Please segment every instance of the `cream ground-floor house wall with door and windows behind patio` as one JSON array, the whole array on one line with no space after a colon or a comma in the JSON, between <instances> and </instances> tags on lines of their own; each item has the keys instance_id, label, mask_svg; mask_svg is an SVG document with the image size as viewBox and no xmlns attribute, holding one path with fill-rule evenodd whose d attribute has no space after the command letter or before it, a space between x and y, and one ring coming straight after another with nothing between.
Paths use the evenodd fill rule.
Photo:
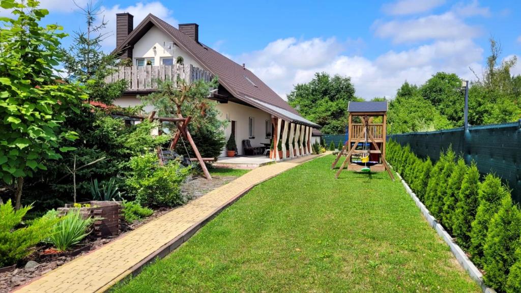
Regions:
<instances>
[{"instance_id":1,"label":"cream ground-floor house wall with door and windows behind patio","mask_svg":"<svg viewBox=\"0 0 521 293\"><path fill-rule=\"evenodd\" d=\"M228 120L237 121L235 123L235 143L237 143L237 149L240 155L244 154L244 150L242 148L242 141L245 139L249 139L252 146L261 146L261 143L269 143L270 138L266 138L266 128L265 121L268 120L269 130L271 132L271 115L259 110L257 108L253 108L250 106L241 105L238 103L228 102L226 104L217 104L217 109L221 113L220 119L226 119L228 115ZM249 137L249 117L254 117L254 135L255 138ZM225 130L226 139L230 137L231 134L231 122L228 124L228 127ZM221 156L226 156L226 150L223 150Z\"/></svg>"}]
</instances>

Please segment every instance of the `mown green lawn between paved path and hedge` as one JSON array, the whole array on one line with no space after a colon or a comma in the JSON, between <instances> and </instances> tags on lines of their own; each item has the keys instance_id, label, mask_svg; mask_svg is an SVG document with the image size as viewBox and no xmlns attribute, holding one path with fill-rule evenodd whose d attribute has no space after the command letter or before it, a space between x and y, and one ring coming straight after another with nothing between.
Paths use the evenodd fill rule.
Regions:
<instances>
[{"instance_id":1,"label":"mown green lawn between paved path and hedge","mask_svg":"<svg viewBox=\"0 0 521 293\"><path fill-rule=\"evenodd\" d=\"M387 173L317 158L228 207L116 292L481 292Z\"/></svg>"}]
</instances>

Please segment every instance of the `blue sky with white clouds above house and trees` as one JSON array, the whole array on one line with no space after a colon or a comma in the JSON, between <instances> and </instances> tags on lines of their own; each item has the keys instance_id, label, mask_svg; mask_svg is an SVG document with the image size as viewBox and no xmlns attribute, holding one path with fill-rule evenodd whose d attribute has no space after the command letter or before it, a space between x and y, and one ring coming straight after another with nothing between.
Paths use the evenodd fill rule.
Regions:
<instances>
[{"instance_id":1,"label":"blue sky with white clouds above house and trees","mask_svg":"<svg viewBox=\"0 0 521 293\"><path fill-rule=\"evenodd\" d=\"M77 3L85 3L78 0ZM350 76L358 96L393 96L405 81L437 71L476 79L501 42L503 58L521 56L521 1L117 1L97 0L114 31L115 13L148 13L172 25L199 23L200 41L246 63L281 96L314 72ZM43 0L46 22L72 32L83 26L72 0ZM5 14L5 11L0 11ZM69 41L65 41L67 43ZM110 51L115 37L104 49ZM521 74L521 65L514 69Z\"/></svg>"}]
</instances>

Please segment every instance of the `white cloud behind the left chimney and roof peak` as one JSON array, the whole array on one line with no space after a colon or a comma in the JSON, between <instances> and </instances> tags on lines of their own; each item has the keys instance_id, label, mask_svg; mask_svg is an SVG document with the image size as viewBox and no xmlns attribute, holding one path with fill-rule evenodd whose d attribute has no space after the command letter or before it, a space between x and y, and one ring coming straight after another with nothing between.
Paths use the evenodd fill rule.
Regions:
<instances>
[{"instance_id":1,"label":"white cloud behind the left chimney and roof peak","mask_svg":"<svg viewBox=\"0 0 521 293\"><path fill-rule=\"evenodd\" d=\"M134 27L138 26L139 23L149 14L153 14L160 19L168 22L172 26L177 26L178 21L173 18L173 11L168 9L163 3L155 2L138 2L134 5L127 7L121 7L119 4L112 7L101 7L104 11L105 20L108 21L105 33L108 33L108 37L103 42L104 51L112 51L116 47L116 14L128 12L134 16Z\"/></svg>"}]
</instances>

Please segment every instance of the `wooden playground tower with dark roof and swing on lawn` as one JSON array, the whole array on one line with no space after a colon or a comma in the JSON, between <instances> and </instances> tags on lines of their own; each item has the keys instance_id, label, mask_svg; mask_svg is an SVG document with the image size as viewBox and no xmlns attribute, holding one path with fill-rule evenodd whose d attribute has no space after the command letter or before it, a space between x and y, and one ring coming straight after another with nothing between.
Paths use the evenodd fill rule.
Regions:
<instances>
[{"instance_id":1,"label":"wooden playground tower with dark roof and swing on lawn","mask_svg":"<svg viewBox=\"0 0 521 293\"><path fill-rule=\"evenodd\" d=\"M364 168L369 169L371 166L376 172L387 170L391 179L394 180L386 161L387 102L349 102L348 112L348 140L339 151L331 169L337 166L342 155L346 157L335 178L338 178L342 170L349 164L348 170L359 171ZM359 123L355 123L357 120L355 117L359 118ZM381 122L374 123L376 117L382 117ZM362 141L362 148L360 148ZM357 155L361 159L352 162L353 155Z\"/></svg>"}]
</instances>

